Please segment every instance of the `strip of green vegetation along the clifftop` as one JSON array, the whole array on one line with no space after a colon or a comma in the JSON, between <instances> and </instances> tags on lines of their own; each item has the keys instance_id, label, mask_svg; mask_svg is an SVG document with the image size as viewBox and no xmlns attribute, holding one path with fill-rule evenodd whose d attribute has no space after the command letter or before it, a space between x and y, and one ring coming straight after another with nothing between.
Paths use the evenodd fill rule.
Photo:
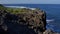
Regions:
<instances>
[{"instance_id":1,"label":"strip of green vegetation along the clifftop","mask_svg":"<svg viewBox=\"0 0 60 34\"><path fill-rule=\"evenodd\" d=\"M24 14L27 12L31 12L33 13L35 10L30 10L30 9L26 9L26 8L10 8L10 7L4 7L3 5L0 4L0 10L6 10L7 12L10 12L12 14ZM36 10L39 10L36 9Z\"/></svg>"}]
</instances>

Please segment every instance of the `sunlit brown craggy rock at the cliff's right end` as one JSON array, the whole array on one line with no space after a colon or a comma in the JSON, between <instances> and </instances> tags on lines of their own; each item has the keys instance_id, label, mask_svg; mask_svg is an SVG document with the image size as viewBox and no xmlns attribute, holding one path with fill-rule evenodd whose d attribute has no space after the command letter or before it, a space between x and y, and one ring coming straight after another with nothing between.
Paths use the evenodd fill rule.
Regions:
<instances>
[{"instance_id":1,"label":"sunlit brown craggy rock at the cliff's right end","mask_svg":"<svg viewBox=\"0 0 60 34\"><path fill-rule=\"evenodd\" d=\"M43 11L34 11L32 14L29 11L26 14L18 14L20 16L18 21L28 26L30 29L34 29L35 32L43 32L46 29L46 13Z\"/></svg>"}]
</instances>

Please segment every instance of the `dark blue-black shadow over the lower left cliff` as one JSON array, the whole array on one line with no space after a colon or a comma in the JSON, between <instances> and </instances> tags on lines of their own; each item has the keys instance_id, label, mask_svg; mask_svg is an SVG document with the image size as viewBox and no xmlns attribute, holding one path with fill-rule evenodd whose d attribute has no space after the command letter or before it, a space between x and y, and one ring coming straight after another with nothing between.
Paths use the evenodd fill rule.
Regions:
<instances>
[{"instance_id":1,"label":"dark blue-black shadow over the lower left cliff","mask_svg":"<svg viewBox=\"0 0 60 34\"><path fill-rule=\"evenodd\" d=\"M36 34L33 29L29 29L27 25L18 24L18 16L7 13L3 18L3 28L0 25L0 34ZM22 23L24 20L22 20ZM7 28L6 28L6 27ZM7 29L6 31L4 29Z\"/></svg>"}]
</instances>

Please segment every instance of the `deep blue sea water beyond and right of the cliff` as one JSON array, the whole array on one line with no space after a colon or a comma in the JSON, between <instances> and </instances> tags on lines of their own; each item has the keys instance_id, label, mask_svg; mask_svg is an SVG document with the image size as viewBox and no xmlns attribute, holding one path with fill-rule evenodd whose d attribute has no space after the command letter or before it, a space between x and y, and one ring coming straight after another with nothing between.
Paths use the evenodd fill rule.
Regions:
<instances>
[{"instance_id":1,"label":"deep blue sea water beyond and right of the cliff","mask_svg":"<svg viewBox=\"0 0 60 34\"><path fill-rule=\"evenodd\" d=\"M60 32L60 4L3 4L4 6L23 6L40 8L46 12L47 29Z\"/></svg>"}]
</instances>

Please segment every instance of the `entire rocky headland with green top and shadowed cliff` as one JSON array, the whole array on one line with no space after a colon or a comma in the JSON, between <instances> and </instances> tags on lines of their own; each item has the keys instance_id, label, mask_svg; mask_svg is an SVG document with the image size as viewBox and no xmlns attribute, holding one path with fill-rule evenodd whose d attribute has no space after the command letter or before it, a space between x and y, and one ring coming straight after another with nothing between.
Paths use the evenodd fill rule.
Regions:
<instances>
[{"instance_id":1,"label":"entire rocky headland with green top and shadowed cliff","mask_svg":"<svg viewBox=\"0 0 60 34\"><path fill-rule=\"evenodd\" d=\"M2 6L2 5L1 5ZM0 34L59 34L46 30L46 13L26 8L0 8Z\"/></svg>"}]
</instances>

